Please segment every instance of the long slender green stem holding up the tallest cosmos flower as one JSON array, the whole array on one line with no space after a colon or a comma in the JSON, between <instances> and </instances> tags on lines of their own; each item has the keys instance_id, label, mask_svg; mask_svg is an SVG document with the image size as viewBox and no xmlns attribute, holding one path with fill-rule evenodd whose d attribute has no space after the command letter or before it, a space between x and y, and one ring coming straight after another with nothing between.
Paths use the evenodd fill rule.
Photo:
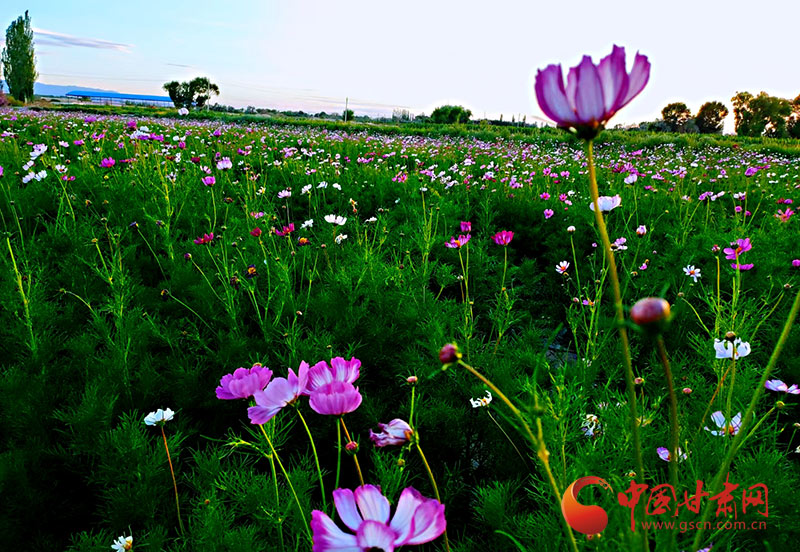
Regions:
<instances>
[{"instance_id":1,"label":"long slender green stem holding up the tallest cosmos flower","mask_svg":"<svg viewBox=\"0 0 800 552\"><path fill-rule=\"evenodd\" d=\"M625 387L628 395L628 406L630 408L633 452L634 461L636 462L636 481L637 483L642 483L644 482L644 462L642 462L642 441L639 436L639 414L636 409L636 388L633 383L633 364L631 362L631 351L628 344L628 331L625 329L625 314L622 308L622 293L619 287L617 263L614 260L614 252L611 250L611 240L608 237L608 229L606 228L605 220L603 220L603 213L600 211L600 192L597 189L597 176L595 175L594 169L594 150L591 140L586 141L586 156L589 165L589 191L591 192L592 203L594 204L594 218L597 222L597 229L600 232L603 249L608 259L609 271L611 272L611 289L614 292L614 309L616 311L617 329L619 330L619 337L622 340L622 357L625 361ZM645 550L648 550L649 543L644 533L642 534L642 542Z\"/></svg>"}]
</instances>

